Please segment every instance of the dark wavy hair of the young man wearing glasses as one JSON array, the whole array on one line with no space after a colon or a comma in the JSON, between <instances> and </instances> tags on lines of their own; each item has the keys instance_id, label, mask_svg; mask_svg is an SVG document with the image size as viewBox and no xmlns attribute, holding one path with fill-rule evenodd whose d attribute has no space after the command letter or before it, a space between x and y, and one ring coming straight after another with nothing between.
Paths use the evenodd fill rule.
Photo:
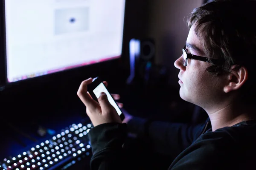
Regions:
<instances>
[{"instance_id":1,"label":"dark wavy hair of the young man wearing glasses","mask_svg":"<svg viewBox=\"0 0 256 170\"><path fill-rule=\"evenodd\" d=\"M189 15L189 29L193 24L206 56L220 61L209 66L207 71L219 76L244 66L249 74L242 95L248 98L247 90L256 94L253 87L256 78L256 1L214 0L205 3Z\"/></svg>"}]
</instances>

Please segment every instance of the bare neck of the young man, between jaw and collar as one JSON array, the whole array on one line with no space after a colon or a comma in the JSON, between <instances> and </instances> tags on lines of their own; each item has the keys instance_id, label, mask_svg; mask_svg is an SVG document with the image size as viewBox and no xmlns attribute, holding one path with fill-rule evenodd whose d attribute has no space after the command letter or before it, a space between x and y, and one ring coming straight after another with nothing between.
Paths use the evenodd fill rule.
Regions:
<instances>
[{"instance_id":1,"label":"bare neck of the young man, between jaw and collar","mask_svg":"<svg viewBox=\"0 0 256 170\"><path fill-rule=\"evenodd\" d=\"M252 108L240 103L222 105L215 111L205 109L211 120L212 131L222 127L233 126L239 122L256 119Z\"/></svg>"}]
</instances>

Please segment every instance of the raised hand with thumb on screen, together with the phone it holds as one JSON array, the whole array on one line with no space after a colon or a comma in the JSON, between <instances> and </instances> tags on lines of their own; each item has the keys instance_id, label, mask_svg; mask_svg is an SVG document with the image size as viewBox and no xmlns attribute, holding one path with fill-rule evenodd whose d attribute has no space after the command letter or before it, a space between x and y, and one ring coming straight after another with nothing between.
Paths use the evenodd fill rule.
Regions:
<instances>
[{"instance_id":1,"label":"raised hand with thumb on screen, together with the phone it holds","mask_svg":"<svg viewBox=\"0 0 256 170\"><path fill-rule=\"evenodd\" d=\"M106 95L100 95L101 92ZM122 123L124 114L99 77L83 81L77 94L86 106L87 115L94 126L109 122Z\"/></svg>"}]
</instances>

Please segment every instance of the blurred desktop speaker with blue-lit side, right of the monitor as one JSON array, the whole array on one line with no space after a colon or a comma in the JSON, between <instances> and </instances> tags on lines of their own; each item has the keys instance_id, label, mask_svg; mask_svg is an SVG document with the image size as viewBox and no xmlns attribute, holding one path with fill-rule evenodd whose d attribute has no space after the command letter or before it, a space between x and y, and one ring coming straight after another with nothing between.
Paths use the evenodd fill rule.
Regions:
<instances>
[{"instance_id":1,"label":"blurred desktop speaker with blue-lit side, right of the monitor","mask_svg":"<svg viewBox=\"0 0 256 170\"><path fill-rule=\"evenodd\" d=\"M151 38L131 39L129 42L130 76L127 84L148 79L155 59L155 41Z\"/></svg>"}]
</instances>

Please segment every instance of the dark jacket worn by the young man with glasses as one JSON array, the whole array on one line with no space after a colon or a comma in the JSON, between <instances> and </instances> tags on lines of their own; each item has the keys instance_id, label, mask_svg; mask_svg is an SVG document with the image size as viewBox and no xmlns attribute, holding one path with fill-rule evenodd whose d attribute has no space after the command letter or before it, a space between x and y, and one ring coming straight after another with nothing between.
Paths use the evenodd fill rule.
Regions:
<instances>
[{"instance_id":1,"label":"dark jacket worn by the young man with glasses","mask_svg":"<svg viewBox=\"0 0 256 170\"><path fill-rule=\"evenodd\" d=\"M153 140L154 150L177 156L169 170L256 169L256 121L244 121L232 127L211 131L209 119L204 124L146 122L137 128ZM134 123L134 125L138 125ZM128 128L129 127L129 128ZM93 156L91 170L134 170L123 144L131 125L107 123L89 132ZM157 142L159 143L157 145ZM136 153L134 153L136 154Z\"/></svg>"}]
</instances>

